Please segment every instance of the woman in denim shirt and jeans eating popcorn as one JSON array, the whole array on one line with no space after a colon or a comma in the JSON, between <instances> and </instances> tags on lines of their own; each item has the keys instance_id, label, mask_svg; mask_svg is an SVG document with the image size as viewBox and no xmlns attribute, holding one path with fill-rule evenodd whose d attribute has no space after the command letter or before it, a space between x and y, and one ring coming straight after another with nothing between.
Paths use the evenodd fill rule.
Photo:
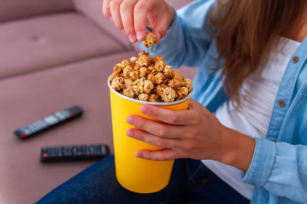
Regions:
<instances>
[{"instance_id":1,"label":"woman in denim shirt and jeans eating popcorn","mask_svg":"<svg viewBox=\"0 0 307 204\"><path fill-rule=\"evenodd\" d=\"M129 192L109 157L37 203L307 203L306 6L199 0L175 11L163 0L105 0L103 14L131 42L153 28L151 56L200 66L189 110L142 106L166 124L127 118L142 129L129 137L167 148L136 157L177 159L170 183Z\"/></svg>"}]
</instances>

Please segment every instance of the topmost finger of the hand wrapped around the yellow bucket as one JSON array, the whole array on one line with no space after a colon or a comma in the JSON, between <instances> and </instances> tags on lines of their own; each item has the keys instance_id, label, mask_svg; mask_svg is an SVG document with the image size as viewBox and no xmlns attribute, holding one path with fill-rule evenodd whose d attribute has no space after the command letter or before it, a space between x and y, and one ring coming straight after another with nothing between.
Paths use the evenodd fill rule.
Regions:
<instances>
[{"instance_id":1,"label":"topmost finger of the hand wrapped around the yellow bucket","mask_svg":"<svg viewBox=\"0 0 307 204\"><path fill-rule=\"evenodd\" d=\"M141 112L153 118L157 118L168 124L193 125L200 120L199 113L194 110L168 110L157 106L143 105Z\"/></svg>"}]
</instances>

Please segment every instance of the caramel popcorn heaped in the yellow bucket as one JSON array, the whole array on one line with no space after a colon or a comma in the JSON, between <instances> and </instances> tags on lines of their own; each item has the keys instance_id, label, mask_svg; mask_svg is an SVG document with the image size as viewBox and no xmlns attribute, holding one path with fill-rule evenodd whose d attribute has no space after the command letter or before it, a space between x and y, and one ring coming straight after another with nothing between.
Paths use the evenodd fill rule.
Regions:
<instances>
[{"instance_id":1,"label":"caramel popcorn heaped in the yellow bucket","mask_svg":"<svg viewBox=\"0 0 307 204\"><path fill-rule=\"evenodd\" d=\"M193 91L192 81L166 65L163 57L150 58L147 52L139 53L138 57L115 65L109 78L115 91L153 103L181 100Z\"/></svg>"}]
</instances>

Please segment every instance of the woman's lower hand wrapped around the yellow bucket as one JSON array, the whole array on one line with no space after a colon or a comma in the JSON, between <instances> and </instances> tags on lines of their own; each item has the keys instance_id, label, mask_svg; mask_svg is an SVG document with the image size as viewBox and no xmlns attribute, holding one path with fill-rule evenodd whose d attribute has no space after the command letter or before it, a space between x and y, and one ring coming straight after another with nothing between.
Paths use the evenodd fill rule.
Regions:
<instances>
[{"instance_id":1,"label":"woman's lower hand wrapped around the yellow bucket","mask_svg":"<svg viewBox=\"0 0 307 204\"><path fill-rule=\"evenodd\" d=\"M136 152L136 157L157 161L191 158L217 160L227 164L233 162L238 155L248 154L245 163L236 165L242 170L247 170L253 152L250 150L242 152L242 149L246 148L238 147L255 146L254 139L223 126L200 103L190 99L189 109L182 111L143 105L141 112L161 120L162 123L138 116L128 116L127 122L138 129L128 129L127 135L165 149L140 150ZM238 137L244 137L243 143L238 143ZM240 152L238 149L241 149Z\"/></svg>"}]
</instances>

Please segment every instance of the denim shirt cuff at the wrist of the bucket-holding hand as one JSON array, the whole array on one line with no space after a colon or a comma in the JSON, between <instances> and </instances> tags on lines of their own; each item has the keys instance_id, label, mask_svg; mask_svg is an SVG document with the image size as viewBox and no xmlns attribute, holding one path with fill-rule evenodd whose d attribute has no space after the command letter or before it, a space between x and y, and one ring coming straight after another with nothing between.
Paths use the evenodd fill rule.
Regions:
<instances>
[{"instance_id":1,"label":"denim shirt cuff at the wrist of the bucket-holding hand","mask_svg":"<svg viewBox=\"0 0 307 204\"><path fill-rule=\"evenodd\" d=\"M263 186L268 181L276 160L276 145L267 139L255 140L253 159L248 171L242 173L242 181L254 186Z\"/></svg>"}]
</instances>

